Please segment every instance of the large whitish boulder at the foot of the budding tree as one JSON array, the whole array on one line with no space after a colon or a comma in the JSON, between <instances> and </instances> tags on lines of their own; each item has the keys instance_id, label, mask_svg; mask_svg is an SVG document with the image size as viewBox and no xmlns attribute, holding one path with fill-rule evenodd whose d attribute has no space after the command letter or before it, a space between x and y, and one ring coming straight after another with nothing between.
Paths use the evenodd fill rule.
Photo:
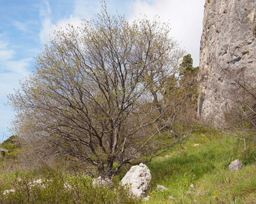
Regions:
<instances>
[{"instance_id":1,"label":"large whitish boulder at the foot of the budding tree","mask_svg":"<svg viewBox=\"0 0 256 204\"><path fill-rule=\"evenodd\" d=\"M137 197L142 197L151 180L151 174L148 167L144 164L138 166L133 166L127 172L123 180L121 180L123 185L127 185L128 188L131 187L131 192Z\"/></svg>"}]
</instances>

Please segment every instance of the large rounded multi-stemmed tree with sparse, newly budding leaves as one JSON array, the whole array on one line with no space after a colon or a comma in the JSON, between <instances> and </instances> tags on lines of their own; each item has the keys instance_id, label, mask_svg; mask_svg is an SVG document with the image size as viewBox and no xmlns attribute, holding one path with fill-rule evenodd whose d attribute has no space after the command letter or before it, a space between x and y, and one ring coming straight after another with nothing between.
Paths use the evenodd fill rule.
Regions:
<instances>
[{"instance_id":1,"label":"large rounded multi-stemmed tree with sparse, newly budding leaves","mask_svg":"<svg viewBox=\"0 0 256 204\"><path fill-rule=\"evenodd\" d=\"M110 16L106 5L81 27L56 31L36 58L36 71L10 95L14 131L34 155L67 155L107 177L126 163L150 161L178 142L155 139L172 121L167 104L154 99L163 101L163 82L183 53L169 31L157 20L129 24Z\"/></svg>"}]
</instances>

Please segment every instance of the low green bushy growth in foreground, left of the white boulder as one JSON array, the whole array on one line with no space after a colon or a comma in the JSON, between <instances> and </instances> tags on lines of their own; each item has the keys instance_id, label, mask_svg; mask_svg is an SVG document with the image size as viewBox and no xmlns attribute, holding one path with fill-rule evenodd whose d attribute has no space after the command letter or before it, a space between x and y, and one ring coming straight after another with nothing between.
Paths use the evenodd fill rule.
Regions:
<instances>
[{"instance_id":1,"label":"low green bushy growth in foreground, left of the white boulder","mask_svg":"<svg viewBox=\"0 0 256 204\"><path fill-rule=\"evenodd\" d=\"M0 203L138 203L117 181L114 186L93 186L91 177L61 171L50 171L37 182L33 179L32 173L16 177L12 191L1 189Z\"/></svg>"}]
</instances>

